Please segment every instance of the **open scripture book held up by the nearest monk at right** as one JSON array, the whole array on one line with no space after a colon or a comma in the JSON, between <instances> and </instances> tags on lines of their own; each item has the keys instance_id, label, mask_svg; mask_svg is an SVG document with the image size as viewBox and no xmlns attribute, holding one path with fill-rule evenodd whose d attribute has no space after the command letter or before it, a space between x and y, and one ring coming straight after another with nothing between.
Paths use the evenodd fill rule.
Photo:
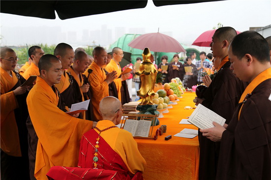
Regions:
<instances>
[{"instance_id":1,"label":"open scripture book held up by the nearest monk at right","mask_svg":"<svg viewBox=\"0 0 271 180\"><path fill-rule=\"evenodd\" d=\"M213 121L224 125L226 119L199 104L187 121L200 129L208 129L214 127Z\"/></svg>"}]
</instances>

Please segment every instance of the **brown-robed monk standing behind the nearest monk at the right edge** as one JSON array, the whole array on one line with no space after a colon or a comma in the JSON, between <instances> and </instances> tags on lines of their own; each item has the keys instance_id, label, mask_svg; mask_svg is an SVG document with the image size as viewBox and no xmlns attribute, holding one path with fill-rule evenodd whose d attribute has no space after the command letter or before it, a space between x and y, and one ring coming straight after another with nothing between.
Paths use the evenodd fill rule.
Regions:
<instances>
[{"instance_id":1,"label":"brown-robed monk standing behind the nearest monk at the right edge","mask_svg":"<svg viewBox=\"0 0 271 180\"><path fill-rule=\"evenodd\" d=\"M241 94L244 90L243 83L230 69L228 47L237 32L231 27L223 27L215 31L210 44L213 56L220 58L220 66L213 81L203 94L203 99L196 97L198 103L214 111L229 123ZM214 180L219 154L219 142L214 143L202 136L199 132L200 143L200 180Z\"/></svg>"}]
</instances>

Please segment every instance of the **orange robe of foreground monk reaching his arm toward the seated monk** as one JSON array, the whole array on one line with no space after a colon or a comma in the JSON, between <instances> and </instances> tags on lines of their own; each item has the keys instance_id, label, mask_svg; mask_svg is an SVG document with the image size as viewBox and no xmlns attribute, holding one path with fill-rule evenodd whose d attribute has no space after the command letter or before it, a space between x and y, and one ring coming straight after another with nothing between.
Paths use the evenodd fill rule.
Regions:
<instances>
[{"instance_id":1,"label":"orange robe of foreground monk reaching his arm toward the seated monk","mask_svg":"<svg viewBox=\"0 0 271 180\"><path fill-rule=\"evenodd\" d=\"M69 116L58 105L58 95L41 78L27 97L29 115L38 136L35 178L46 180L52 166L74 167L82 135L93 121Z\"/></svg>"}]
</instances>

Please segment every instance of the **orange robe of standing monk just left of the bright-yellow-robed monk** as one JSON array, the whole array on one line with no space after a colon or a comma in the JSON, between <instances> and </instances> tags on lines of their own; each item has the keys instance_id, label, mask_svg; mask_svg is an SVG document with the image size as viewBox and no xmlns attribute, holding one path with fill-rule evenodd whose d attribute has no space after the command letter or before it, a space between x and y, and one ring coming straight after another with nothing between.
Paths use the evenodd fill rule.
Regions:
<instances>
[{"instance_id":1,"label":"orange robe of standing monk just left of the bright-yellow-robed monk","mask_svg":"<svg viewBox=\"0 0 271 180\"><path fill-rule=\"evenodd\" d=\"M96 62L92 62L89 69L92 69L92 73L89 75L88 81L91 86L93 114L95 120L102 120L100 114L99 104L102 98L109 96L108 85L105 82L106 75ZM88 72L85 74L88 77Z\"/></svg>"}]
</instances>

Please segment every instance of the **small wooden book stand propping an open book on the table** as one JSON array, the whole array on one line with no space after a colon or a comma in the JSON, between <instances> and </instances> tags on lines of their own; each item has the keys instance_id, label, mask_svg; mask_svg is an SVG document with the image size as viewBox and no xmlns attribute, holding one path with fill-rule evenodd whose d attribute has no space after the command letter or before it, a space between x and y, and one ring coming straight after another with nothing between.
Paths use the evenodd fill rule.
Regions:
<instances>
[{"instance_id":1,"label":"small wooden book stand propping an open book on the table","mask_svg":"<svg viewBox=\"0 0 271 180\"><path fill-rule=\"evenodd\" d=\"M155 118L157 115L145 115L145 114L123 114L122 115L122 120L121 120L121 126L120 128L124 128L126 120L149 120L152 121L154 124ZM150 131L149 131L149 136L148 137L139 137L139 136L134 136L134 138L137 139L154 139L154 136L152 135L153 132L153 126L151 126Z\"/></svg>"}]
</instances>

